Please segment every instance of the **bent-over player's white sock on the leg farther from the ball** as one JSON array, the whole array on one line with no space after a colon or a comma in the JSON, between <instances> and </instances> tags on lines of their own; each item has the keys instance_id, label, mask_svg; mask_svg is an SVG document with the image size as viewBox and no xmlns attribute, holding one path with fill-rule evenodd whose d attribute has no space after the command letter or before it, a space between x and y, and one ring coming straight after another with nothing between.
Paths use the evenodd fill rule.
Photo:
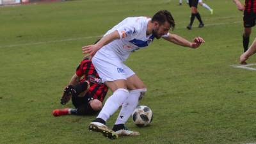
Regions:
<instances>
[{"instance_id":1,"label":"bent-over player's white sock on the leg farther from the ball","mask_svg":"<svg viewBox=\"0 0 256 144\"><path fill-rule=\"evenodd\" d=\"M102 110L97 118L102 118L105 122L108 118L115 113L115 111L124 103L129 96L128 90L124 88L118 88L113 95L111 95L105 102Z\"/></svg>"}]
</instances>

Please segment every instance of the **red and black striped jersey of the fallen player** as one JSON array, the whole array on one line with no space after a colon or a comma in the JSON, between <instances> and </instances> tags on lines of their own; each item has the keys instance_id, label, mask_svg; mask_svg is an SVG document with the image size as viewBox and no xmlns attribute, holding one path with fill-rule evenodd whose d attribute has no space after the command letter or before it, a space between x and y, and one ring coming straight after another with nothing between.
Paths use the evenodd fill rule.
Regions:
<instances>
[{"instance_id":1,"label":"red and black striped jersey of the fallen player","mask_svg":"<svg viewBox=\"0 0 256 144\"><path fill-rule=\"evenodd\" d=\"M95 77L100 79L99 74L95 70L92 61L87 58L81 61L80 65L76 69L76 75L83 77L81 81L89 80L90 77ZM106 94L108 93L108 86L104 83L95 83L90 81L90 89L88 93L93 95L93 99L99 99L103 102Z\"/></svg>"}]
</instances>

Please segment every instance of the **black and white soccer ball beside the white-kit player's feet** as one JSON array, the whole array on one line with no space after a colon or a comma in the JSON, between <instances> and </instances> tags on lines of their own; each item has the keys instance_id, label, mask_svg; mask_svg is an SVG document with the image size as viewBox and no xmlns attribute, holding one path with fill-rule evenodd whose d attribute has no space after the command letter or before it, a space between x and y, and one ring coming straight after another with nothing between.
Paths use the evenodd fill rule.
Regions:
<instances>
[{"instance_id":1,"label":"black and white soccer ball beside the white-kit player's feet","mask_svg":"<svg viewBox=\"0 0 256 144\"><path fill-rule=\"evenodd\" d=\"M138 106L132 113L132 122L138 127L145 127L153 120L153 113L147 106Z\"/></svg>"}]
</instances>

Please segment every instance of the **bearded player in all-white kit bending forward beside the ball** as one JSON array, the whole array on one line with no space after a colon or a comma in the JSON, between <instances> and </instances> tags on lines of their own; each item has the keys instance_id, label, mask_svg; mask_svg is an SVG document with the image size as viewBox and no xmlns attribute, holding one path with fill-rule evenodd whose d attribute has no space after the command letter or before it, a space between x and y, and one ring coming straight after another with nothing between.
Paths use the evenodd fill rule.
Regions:
<instances>
[{"instance_id":1,"label":"bearded player in all-white kit bending forward beside the ball","mask_svg":"<svg viewBox=\"0 0 256 144\"><path fill-rule=\"evenodd\" d=\"M167 10L157 12L152 19L128 17L110 29L97 44L82 48L83 54L93 56L94 67L102 81L113 92L97 118L90 123L90 131L102 132L104 136L111 139L140 134L129 131L124 124L147 89L141 79L123 62L127 60L131 52L147 47L154 38L164 38L174 44L194 49L204 43L201 37L196 37L193 42L189 42L178 35L168 33L174 26L173 17ZM115 125L113 129L109 129L106 121L120 106L122 109Z\"/></svg>"}]
</instances>

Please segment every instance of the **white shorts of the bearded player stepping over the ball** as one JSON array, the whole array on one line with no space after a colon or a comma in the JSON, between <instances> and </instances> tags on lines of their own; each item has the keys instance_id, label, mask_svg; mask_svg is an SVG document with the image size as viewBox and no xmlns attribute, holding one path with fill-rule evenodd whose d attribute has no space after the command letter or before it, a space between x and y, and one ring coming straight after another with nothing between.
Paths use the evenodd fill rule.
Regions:
<instances>
[{"instance_id":1,"label":"white shorts of the bearded player stepping over the ball","mask_svg":"<svg viewBox=\"0 0 256 144\"><path fill-rule=\"evenodd\" d=\"M98 51L92 58L92 63L97 70L102 82L127 79L135 73L113 52Z\"/></svg>"}]
</instances>

